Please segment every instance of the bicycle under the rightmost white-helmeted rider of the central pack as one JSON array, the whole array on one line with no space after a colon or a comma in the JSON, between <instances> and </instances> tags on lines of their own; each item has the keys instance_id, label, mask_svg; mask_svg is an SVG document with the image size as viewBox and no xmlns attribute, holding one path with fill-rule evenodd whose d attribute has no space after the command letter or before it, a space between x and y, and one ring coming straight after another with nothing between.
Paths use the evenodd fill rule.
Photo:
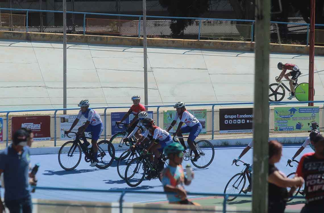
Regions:
<instances>
[{"instance_id":1,"label":"bicycle under the rightmost white-helmeted rider of the central pack","mask_svg":"<svg viewBox=\"0 0 324 213\"><path fill-rule=\"evenodd\" d=\"M188 137L173 136L173 141L180 143L179 140L177 140L179 138L188 139ZM211 142L209 142L208 140L199 140L198 142L193 141L193 144L196 147L196 149L198 151L198 154L200 155L200 158L198 159L198 161L194 162L193 159L195 157L195 154L193 153L193 151L190 148L189 151L187 152L189 154L184 154L183 155L183 160L184 161L191 161L191 163L197 168L200 168L200 169L206 168L214 160L215 150L214 150L213 144ZM212 155L211 155L211 158L210 159L208 158L207 159L208 161L206 161L206 157L208 156L209 150L212 151ZM202 165L198 165L200 162L205 162L205 163L201 163Z\"/></svg>"}]
</instances>

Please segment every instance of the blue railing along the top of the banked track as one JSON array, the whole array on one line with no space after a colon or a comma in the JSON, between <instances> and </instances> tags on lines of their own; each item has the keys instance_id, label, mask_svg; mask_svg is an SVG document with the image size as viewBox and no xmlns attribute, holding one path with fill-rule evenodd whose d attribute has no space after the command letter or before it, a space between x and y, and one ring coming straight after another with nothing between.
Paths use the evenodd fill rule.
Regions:
<instances>
[{"instance_id":1,"label":"blue railing along the top of the banked track","mask_svg":"<svg viewBox=\"0 0 324 213\"><path fill-rule=\"evenodd\" d=\"M49 12L49 13L63 13L63 11L59 10L36 10L36 9L16 9L16 8L0 8L0 10L9 10L9 11L26 11L26 32L28 32L28 24L29 24L29 12ZM137 17L139 19L138 22L138 37L141 36L141 20L143 18L142 15L127 15L127 14L109 14L109 13L89 13L89 12L72 12L66 11L66 13L71 14L83 14L83 35L86 34L86 15L100 15L100 16L118 16L118 17ZM223 19L223 18L199 18L199 17L170 17L170 16L146 16L148 18L160 18L160 19L194 19L199 20L199 28L198 28L198 40L201 38L201 27L202 20L217 20L217 21L238 21L238 22L251 22L251 37L249 38L251 41L254 39L254 22L255 20L245 20L245 19ZM308 32L310 24L307 23L290 23L290 22L279 22L279 21L271 21L273 24L291 24L291 25L301 25L307 26L307 45L308 45ZM324 26L324 24L315 24L315 26ZM246 38L248 39L248 38Z\"/></svg>"}]
</instances>

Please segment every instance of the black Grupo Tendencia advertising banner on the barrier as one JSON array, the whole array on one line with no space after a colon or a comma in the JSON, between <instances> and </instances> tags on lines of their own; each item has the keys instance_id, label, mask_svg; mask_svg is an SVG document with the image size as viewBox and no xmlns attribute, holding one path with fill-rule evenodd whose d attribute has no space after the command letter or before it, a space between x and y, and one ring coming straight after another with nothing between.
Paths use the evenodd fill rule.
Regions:
<instances>
[{"instance_id":1,"label":"black Grupo Tendencia advertising banner on the barrier","mask_svg":"<svg viewBox=\"0 0 324 213\"><path fill-rule=\"evenodd\" d=\"M219 109L219 133L252 132L253 108Z\"/></svg>"}]
</instances>

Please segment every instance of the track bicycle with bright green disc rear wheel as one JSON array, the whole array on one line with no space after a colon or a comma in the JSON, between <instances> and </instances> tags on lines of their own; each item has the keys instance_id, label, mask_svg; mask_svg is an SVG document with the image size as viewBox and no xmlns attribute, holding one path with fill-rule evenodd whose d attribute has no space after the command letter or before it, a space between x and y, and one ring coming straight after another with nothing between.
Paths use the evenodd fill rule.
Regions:
<instances>
[{"instance_id":1,"label":"track bicycle with bright green disc rear wheel","mask_svg":"<svg viewBox=\"0 0 324 213\"><path fill-rule=\"evenodd\" d=\"M275 78L278 79L278 76ZM297 79L298 80L298 79ZM297 84L294 82L294 92L298 101L308 101L308 83ZM291 94L290 88L287 87L282 81L269 85L269 101L281 101L284 99L285 89ZM315 94L315 89L314 89ZM279 98L278 98L279 95Z\"/></svg>"}]
</instances>

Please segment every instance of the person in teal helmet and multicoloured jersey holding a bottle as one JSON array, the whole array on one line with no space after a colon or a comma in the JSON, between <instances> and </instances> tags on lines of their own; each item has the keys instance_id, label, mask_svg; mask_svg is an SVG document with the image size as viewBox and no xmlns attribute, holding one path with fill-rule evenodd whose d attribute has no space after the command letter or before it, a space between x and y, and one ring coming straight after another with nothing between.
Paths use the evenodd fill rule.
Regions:
<instances>
[{"instance_id":1,"label":"person in teal helmet and multicoloured jersey holding a bottle","mask_svg":"<svg viewBox=\"0 0 324 213\"><path fill-rule=\"evenodd\" d=\"M180 143L170 143L164 148L164 154L169 158L169 165L161 173L161 182L165 192L174 192L176 195L167 195L170 204L191 204L187 198L187 192L184 189L185 185L190 185L183 168L183 151L184 147ZM193 174L192 174L193 177Z\"/></svg>"}]
</instances>

